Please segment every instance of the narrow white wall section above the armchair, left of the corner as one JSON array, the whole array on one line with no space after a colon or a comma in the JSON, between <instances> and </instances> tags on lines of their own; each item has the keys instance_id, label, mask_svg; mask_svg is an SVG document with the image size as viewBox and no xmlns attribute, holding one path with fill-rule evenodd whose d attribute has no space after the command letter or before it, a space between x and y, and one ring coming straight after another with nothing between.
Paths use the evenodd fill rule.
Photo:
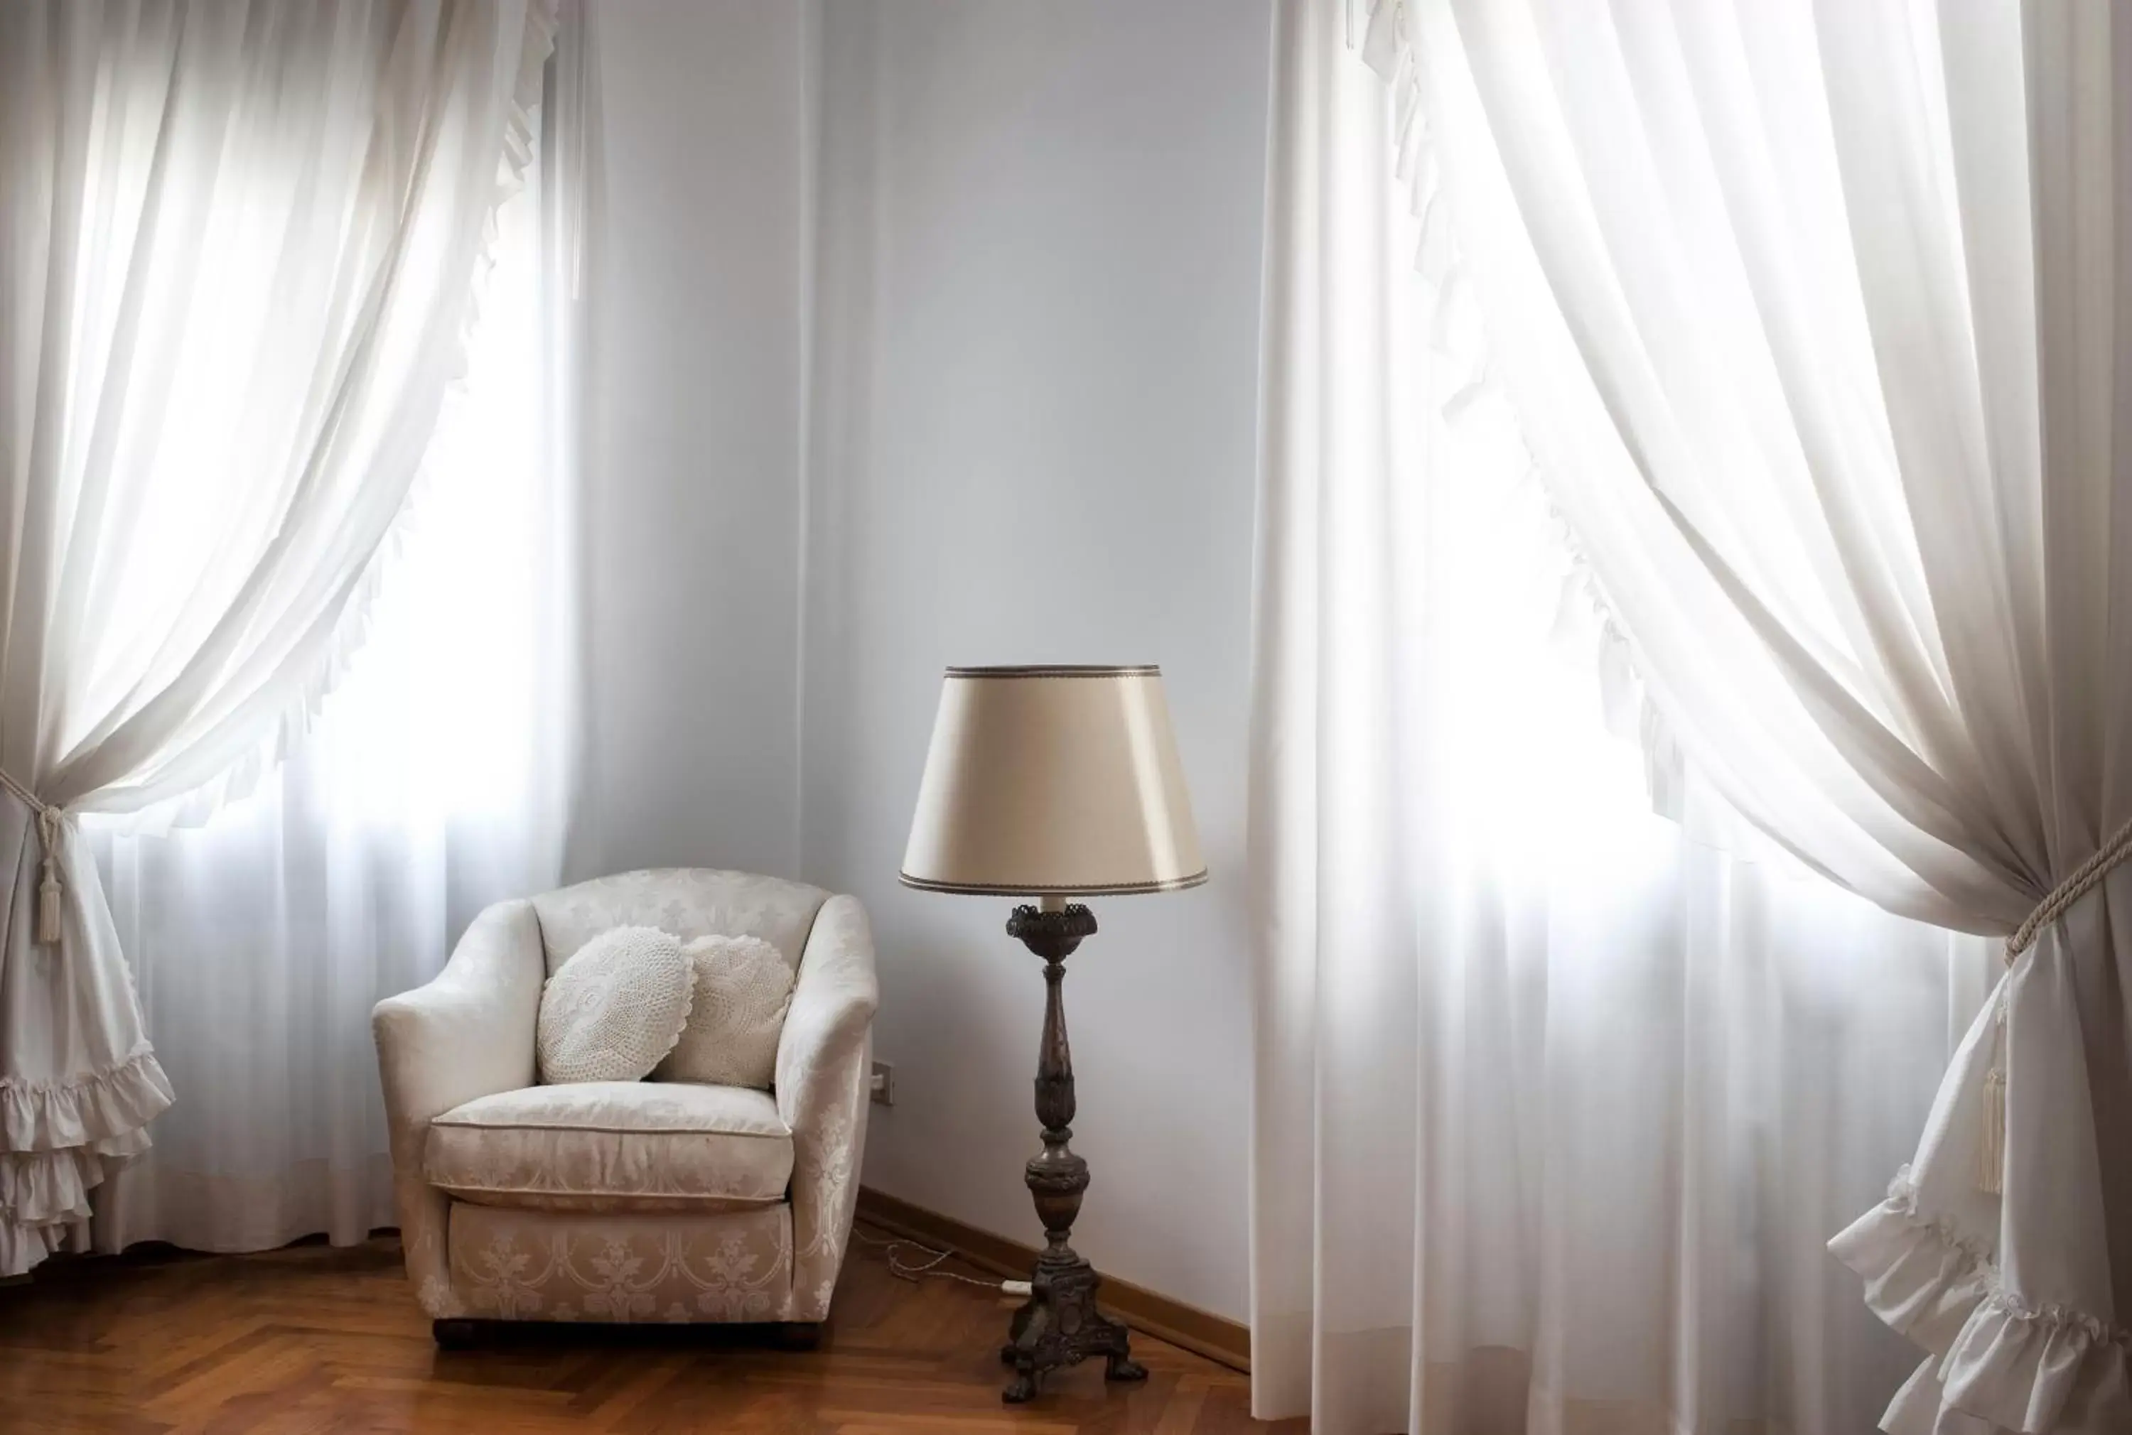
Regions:
<instances>
[{"instance_id":1,"label":"narrow white wall section above the armchair, left of the corner","mask_svg":"<svg viewBox=\"0 0 2132 1435\"><path fill-rule=\"evenodd\" d=\"M797 864L802 6L595 4L574 874Z\"/></svg>"}]
</instances>

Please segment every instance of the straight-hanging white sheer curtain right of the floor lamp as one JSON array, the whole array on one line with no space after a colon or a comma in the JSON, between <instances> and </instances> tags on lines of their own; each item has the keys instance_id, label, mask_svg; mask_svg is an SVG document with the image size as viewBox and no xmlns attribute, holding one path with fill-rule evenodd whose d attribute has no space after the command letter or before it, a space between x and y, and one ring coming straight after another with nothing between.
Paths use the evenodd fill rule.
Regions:
<instances>
[{"instance_id":1,"label":"straight-hanging white sheer curtain right of the floor lamp","mask_svg":"<svg viewBox=\"0 0 2132 1435\"><path fill-rule=\"evenodd\" d=\"M1256 1409L1868 1429L1917 1360L1823 1243L1915 1145L1996 945L1836 889L1669 753L1475 384L1445 215L1392 183L1414 94L1339 4L1277 15Z\"/></svg>"}]
</instances>

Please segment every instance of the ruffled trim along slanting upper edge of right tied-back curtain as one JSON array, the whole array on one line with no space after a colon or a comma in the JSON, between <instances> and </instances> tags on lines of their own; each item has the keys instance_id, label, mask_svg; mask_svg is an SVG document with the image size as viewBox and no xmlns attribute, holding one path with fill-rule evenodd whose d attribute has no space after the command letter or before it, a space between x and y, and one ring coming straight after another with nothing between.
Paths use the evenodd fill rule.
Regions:
<instances>
[{"instance_id":1,"label":"ruffled trim along slanting upper edge of right tied-back curtain","mask_svg":"<svg viewBox=\"0 0 2132 1435\"><path fill-rule=\"evenodd\" d=\"M1642 746L1652 810L1684 821L1686 759L1674 725L1652 697L1635 642L1616 616L1590 554L1554 501L1518 405L1488 371L1488 320L1467 279L1443 196L1405 0L1347 0L1347 45L1392 94L1396 177L1407 186L1409 211L1420 222L1414 269L1428 286L1435 309L1428 348L1454 375L1441 403L1443 422L1456 429L1488 409L1503 416L1507 441L1516 446L1514 463L1531 499L1544 510L1541 527L1563 567L1558 614L1586 618L1576 627L1582 629L1582 657L1599 678L1608 729ZM1569 629L1569 623L1556 623L1558 635Z\"/></svg>"}]
</instances>

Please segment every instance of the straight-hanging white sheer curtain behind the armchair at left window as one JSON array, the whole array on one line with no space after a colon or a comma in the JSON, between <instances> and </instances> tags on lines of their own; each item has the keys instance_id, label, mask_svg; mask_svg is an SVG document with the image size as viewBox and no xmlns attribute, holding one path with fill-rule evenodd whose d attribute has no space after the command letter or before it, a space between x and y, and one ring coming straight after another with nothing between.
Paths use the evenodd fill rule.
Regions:
<instances>
[{"instance_id":1,"label":"straight-hanging white sheer curtain behind the armchair at left window","mask_svg":"<svg viewBox=\"0 0 2132 1435\"><path fill-rule=\"evenodd\" d=\"M179 1092L94 1243L264 1249L394 1224L371 1006L556 885L574 772L582 6L497 213L465 388L369 638L303 746L200 827L83 819Z\"/></svg>"}]
</instances>

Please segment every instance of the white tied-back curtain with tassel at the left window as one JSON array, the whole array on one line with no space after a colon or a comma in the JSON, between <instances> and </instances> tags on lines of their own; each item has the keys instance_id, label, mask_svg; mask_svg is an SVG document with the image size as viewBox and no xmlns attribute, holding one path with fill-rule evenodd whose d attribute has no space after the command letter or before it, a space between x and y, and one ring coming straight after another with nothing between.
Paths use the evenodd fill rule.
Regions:
<instances>
[{"instance_id":1,"label":"white tied-back curtain with tassel at the left window","mask_svg":"<svg viewBox=\"0 0 2132 1435\"><path fill-rule=\"evenodd\" d=\"M0 6L0 1273L171 1100L77 815L196 819L316 714L458 371L550 26L527 0Z\"/></svg>"}]
</instances>

